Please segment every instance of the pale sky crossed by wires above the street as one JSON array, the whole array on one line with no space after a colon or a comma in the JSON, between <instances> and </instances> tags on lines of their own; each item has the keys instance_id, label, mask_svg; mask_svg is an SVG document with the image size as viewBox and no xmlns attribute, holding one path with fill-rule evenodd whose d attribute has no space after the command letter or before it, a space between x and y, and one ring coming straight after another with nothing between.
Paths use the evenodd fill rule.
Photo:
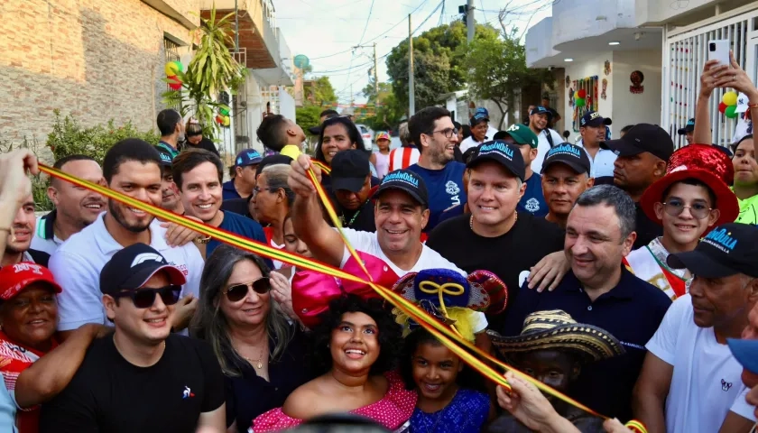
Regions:
<instances>
[{"instance_id":1,"label":"pale sky crossed by wires above the street","mask_svg":"<svg viewBox=\"0 0 758 433\"><path fill-rule=\"evenodd\" d=\"M497 11L510 5L515 13L509 18L509 25L524 29L527 24L539 23L550 16L551 3L550 0L475 0L476 22L499 27ZM408 14L412 13L412 27L419 28L414 33L418 34L439 23L457 20L458 5L465 4L466 0L273 0L277 26L292 55L308 56L313 75L329 77L340 104L349 103L351 95L356 103L365 102L359 93L368 83L368 69L374 62L374 48L370 45L376 42L376 55L382 57L407 39ZM441 5L444 5L444 14ZM353 50L359 41L369 46ZM384 59L378 63L379 81L386 81Z\"/></svg>"}]
</instances>

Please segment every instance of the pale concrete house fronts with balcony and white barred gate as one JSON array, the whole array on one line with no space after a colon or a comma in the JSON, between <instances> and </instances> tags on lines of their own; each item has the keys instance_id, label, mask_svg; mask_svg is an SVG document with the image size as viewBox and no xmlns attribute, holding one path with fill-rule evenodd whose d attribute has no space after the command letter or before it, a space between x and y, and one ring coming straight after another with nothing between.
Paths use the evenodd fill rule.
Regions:
<instances>
[{"instance_id":1,"label":"pale concrete house fronts with balcony and white barred gate","mask_svg":"<svg viewBox=\"0 0 758 433\"><path fill-rule=\"evenodd\" d=\"M571 139L587 110L572 105L571 91L584 88L592 106L613 118L615 137L626 124L646 122L661 124L680 145L683 137L676 131L695 114L707 41L729 40L755 80L756 23L758 1L751 0L556 2L552 16L527 32L527 63L562 76L556 106ZM713 143L726 144L733 140L737 121L718 113L722 95L719 90L711 99L711 123Z\"/></svg>"}]
</instances>

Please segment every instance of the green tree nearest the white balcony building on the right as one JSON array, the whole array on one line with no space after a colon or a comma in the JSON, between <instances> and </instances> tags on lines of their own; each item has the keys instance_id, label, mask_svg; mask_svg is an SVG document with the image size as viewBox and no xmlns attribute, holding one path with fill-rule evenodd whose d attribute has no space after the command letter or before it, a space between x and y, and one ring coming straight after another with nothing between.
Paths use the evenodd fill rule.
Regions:
<instances>
[{"instance_id":1,"label":"green tree nearest the white balcony building on the right","mask_svg":"<svg viewBox=\"0 0 758 433\"><path fill-rule=\"evenodd\" d=\"M526 51L516 33L513 29L503 40L475 40L466 48L468 96L493 101L503 116L522 88L553 85L548 69L527 68Z\"/></svg>"}]
</instances>

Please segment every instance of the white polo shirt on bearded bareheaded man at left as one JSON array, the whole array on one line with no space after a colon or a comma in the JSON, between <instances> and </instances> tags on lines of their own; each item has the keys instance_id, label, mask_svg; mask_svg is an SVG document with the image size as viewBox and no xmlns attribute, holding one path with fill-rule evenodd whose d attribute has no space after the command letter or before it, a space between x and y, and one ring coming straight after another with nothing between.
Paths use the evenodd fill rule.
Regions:
<instances>
[{"instance_id":1,"label":"white polo shirt on bearded bareheaded man at left","mask_svg":"<svg viewBox=\"0 0 758 433\"><path fill-rule=\"evenodd\" d=\"M50 270L63 291L58 295L58 330L69 331L87 323L109 325L100 291L100 271L117 251L123 249L106 229L103 212L94 223L72 235L50 259ZM200 293L202 255L194 244L171 248L166 229L157 219L150 225L150 246L187 277L181 296Z\"/></svg>"}]
</instances>

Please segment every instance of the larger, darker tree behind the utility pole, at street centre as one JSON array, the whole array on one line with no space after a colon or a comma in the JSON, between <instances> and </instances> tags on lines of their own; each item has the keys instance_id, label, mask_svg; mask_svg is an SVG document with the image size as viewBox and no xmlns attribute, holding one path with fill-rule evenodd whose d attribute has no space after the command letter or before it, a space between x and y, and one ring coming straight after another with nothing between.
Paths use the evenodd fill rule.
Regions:
<instances>
[{"instance_id":1,"label":"larger, darker tree behind the utility pole, at street centre","mask_svg":"<svg viewBox=\"0 0 758 433\"><path fill-rule=\"evenodd\" d=\"M489 24L476 24L475 41L496 40L498 32ZM437 104L440 95L466 87L464 65L467 29L456 21L413 38L416 106ZM408 40L400 42L387 57L387 74L401 106L408 106Z\"/></svg>"}]
</instances>

